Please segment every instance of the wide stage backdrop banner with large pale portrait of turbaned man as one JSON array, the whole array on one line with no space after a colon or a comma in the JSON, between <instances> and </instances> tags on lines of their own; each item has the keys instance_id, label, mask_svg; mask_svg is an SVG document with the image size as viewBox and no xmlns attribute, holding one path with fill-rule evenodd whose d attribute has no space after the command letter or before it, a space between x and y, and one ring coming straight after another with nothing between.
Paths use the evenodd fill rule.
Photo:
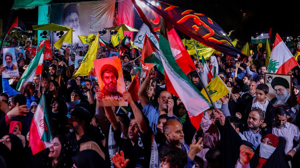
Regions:
<instances>
[{"instance_id":1,"label":"wide stage backdrop banner with large pale portrait of turbaned man","mask_svg":"<svg viewBox=\"0 0 300 168\"><path fill-rule=\"evenodd\" d=\"M115 1L93 1L50 5L50 23L73 28L73 43L83 46L78 36L98 33L104 28L113 26ZM54 14L52 14L54 13ZM59 32L54 33L54 42L59 39ZM110 34L101 38L109 41Z\"/></svg>"}]
</instances>

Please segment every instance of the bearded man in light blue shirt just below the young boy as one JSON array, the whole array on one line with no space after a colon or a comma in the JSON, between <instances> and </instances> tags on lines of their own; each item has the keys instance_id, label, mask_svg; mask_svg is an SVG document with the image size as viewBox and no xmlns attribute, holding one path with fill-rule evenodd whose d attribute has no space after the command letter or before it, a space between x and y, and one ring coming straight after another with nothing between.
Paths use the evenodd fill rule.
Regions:
<instances>
[{"instance_id":1,"label":"bearded man in light blue shirt just below the young boy","mask_svg":"<svg viewBox=\"0 0 300 168\"><path fill-rule=\"evenodd\" d=\"M262 132L259 129L259 126L263 123L263 117L264 115L261 110L251 110L247 119L248 128L243 132L247 141L252 143L255 147L260 144L260 139L262 138Z\"/></svg>"}]
</instances>

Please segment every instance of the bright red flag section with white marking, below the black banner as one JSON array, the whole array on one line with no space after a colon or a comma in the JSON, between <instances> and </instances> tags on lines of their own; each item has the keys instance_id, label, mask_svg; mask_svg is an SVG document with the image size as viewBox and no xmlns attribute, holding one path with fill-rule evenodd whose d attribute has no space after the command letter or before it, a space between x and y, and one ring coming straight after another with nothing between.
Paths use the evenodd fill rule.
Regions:
<instances>
[{"instance_id":1,"label":"bright red flag section with white marking, below the black banner","mask_svg":"<svg viewBox=\"0 0 300 168\"><path fill-rule=\"evenodd\" d=\"M182 69L182 71L186 75L191 71L196 70L196 66L192 58L190 57L190 54L188 54L187 50L185 49L178 34L176 33L176 30L168 22L166 22L166 27L167 27L166 29L167 29L167 37L168 37L167 39L169 41L172 54L178 66Z\"/></svg>"}]
</instances>

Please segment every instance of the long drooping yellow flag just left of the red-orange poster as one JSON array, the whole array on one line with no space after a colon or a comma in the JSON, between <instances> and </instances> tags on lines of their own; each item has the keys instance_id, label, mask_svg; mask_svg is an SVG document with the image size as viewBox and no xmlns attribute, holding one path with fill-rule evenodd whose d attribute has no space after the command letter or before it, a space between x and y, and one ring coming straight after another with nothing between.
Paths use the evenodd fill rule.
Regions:
<instances>
[{"instance_id":1,"label":"long drooping yellow flag just left of the red-orange poster","mask_svg":"<svg viewBox=\"0 0 300 168\"><path fill-rule=\"evenodd\" d=\"M91 69L94 68L94 62L93 60L96 59L97 55L97 49L99 48L99 33L97 33L97 36L92 42L91 46L88 48L88 52L82 59L82 63L76 73L73 76L73 79L75 79L77 76L87 76Z\"/></svg>"}]
</instances>

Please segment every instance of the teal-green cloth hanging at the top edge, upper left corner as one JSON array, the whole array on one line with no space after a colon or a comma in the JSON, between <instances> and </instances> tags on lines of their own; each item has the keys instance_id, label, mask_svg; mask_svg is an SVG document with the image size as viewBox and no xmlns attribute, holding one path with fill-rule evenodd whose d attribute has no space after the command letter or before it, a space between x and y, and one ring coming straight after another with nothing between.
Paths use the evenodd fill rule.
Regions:
<instances>
[{"instance_id":1,"label":"teal-green cloth hanging at the top edge, upper left corner","mask_svg":"<svg viewBox=\"0 0 300 168\"><path fill-rule=\"evenodd\" d=\"M52 0L15 0L13 2L13 9L27 8L32 9L38 5L48 4Z\"/></svg>"}]
</instances>

